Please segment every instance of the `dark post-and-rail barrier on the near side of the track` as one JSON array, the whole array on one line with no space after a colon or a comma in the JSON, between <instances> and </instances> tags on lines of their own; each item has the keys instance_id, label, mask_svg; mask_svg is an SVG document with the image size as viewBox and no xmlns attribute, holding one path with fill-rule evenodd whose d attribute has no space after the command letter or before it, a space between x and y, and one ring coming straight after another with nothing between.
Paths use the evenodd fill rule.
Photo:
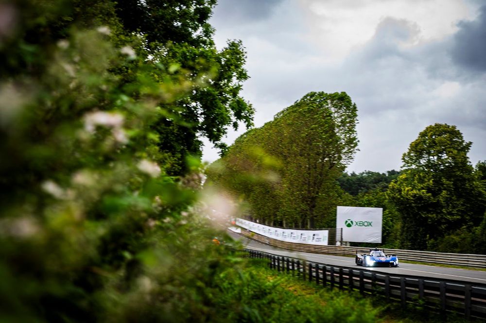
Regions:
<instances>
[{"instance_id":1,"label":"dark post-and-rail barrier on the near side of the track","mask_svg":"<svg viewBox=\"0 0 486 323\"><path fill-rule=\"evenodd\" d=\"M388 301L417 304L437 311L462 313L466 318L486 319L486 285L459 284L448 280L424 279L407 275L387 275L365 269L326 265L245 249L252 258L268 260L278 272L291 273L317 285L356 290L364 295L381 295Z\"/></svg>"}]
</instances>

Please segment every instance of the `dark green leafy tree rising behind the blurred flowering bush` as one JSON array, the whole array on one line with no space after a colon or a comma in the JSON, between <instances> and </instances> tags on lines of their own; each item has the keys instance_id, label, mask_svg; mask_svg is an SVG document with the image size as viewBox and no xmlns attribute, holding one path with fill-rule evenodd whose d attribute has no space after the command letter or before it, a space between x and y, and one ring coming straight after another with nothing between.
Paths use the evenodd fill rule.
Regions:
<instances>
[{"instance_id":1,"label":"dark green leafy tree rising behind the blurred flowering bush","mask_svg":"<svg viewBox=\"0 0 486 323\"><path fill-rule=\"evenodd\" d=\"M172 175L187 170L184 161L188 156L201 155L200 136L224 153L226 144L221 139L228 127L238 129L240 122L247 128L253 125L254 110L240 96L248 79L243 68L246 53L239 40L228 41L221 51L216 49L214 29L208 23L215 5L216 0L115 2L123 27L142 38L138 53L191 81L187 83L189 95L164 102L166 116L154 128L160 134L159 148L176 152L176 160L181 161L168 170ZM165 136L165 129L177 135Z\"/></svg>"}]
</instances>

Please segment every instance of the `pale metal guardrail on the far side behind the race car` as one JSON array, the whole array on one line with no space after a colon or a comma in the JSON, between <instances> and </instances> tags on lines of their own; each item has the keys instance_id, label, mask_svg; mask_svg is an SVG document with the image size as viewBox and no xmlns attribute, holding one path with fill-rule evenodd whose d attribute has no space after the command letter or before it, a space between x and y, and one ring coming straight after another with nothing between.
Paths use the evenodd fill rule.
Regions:
<instances>
[{"instance_id":1,"label":"pale metal guardrail on the far side behind the race car","mask_svg":"<svg viewBox=\"0 0 486 323\"><path fill-rule=\"evenodd\" d=\"M319 245L310 245L304 243L280 241L274 238L261 236L255 232L251 232L243 228L241 229L241 234L245 237L252 238L259 242L263 242L275 247L290 249L295 251L309 252L314 254L354 256L356 255L356 250L360 251L360 253L367 253L369 251L369 248L347 247L347 246L319 246ZM414 251L414 250L399 250L399 249L385 249L385 252L386 254L397 255L400 260L486 268L486 255L446 254L446 253L436 253L430 251Z\"/></svg>"}]
</instances>

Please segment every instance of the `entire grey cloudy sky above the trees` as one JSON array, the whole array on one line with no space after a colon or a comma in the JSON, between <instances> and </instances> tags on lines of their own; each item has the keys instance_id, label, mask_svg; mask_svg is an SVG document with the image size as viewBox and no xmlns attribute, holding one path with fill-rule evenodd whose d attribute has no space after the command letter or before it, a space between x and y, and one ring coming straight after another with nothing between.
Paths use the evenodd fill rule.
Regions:
<instances>
[{"instance_id":1,"label":"entire grey cloudy sky above the trees","mask_svg":"<svg viewBox=\"0 0 486 323\"><path fill-rule=\"evenodd\" d=\"M345 91L360 140L348 171L398 170L436 122L473 142L473 164L486 159L485 0L219 0L211 24L219 48L243 41L257 127L310 91Z\"/></svg>"}]
</instances>

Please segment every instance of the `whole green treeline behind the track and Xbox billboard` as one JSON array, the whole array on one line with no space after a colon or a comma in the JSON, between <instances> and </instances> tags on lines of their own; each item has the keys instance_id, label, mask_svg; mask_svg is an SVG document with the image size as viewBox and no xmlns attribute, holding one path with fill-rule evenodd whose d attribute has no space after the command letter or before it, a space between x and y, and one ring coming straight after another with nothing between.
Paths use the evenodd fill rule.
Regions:
<instances>
[{"instance_id":1,"label":"whole green treeline behind the track and Xbox billboard","mask_svg":"<svg viewBox=\"0 0 486 323\"><path fill-rule=\"evenodd\" d=\"M387 248L486 254L486 162L453 125L424 129L401 170L348 174L357 108L346 93L311 92L240 136L208 170L243 216L285 228L336 227L336 206L383 208Z\"/></svg>"}]
</instances>

